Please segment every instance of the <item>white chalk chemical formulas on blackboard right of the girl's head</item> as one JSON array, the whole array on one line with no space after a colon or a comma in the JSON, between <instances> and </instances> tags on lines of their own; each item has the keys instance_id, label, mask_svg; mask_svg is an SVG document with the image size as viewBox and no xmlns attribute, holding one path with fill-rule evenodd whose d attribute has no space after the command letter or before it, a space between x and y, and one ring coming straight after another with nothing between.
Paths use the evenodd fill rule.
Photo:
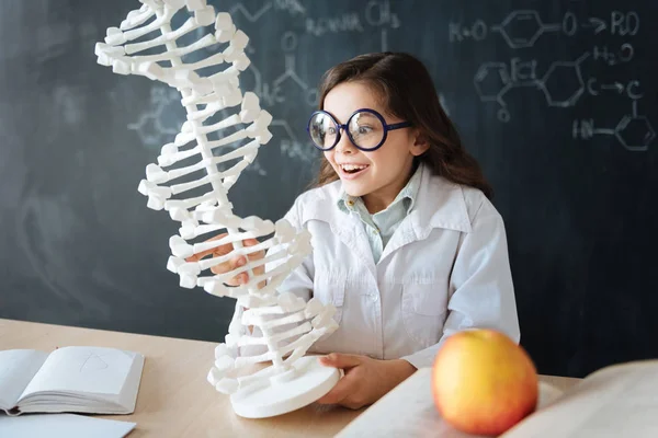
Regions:
<instances>
[{"instance_id":1,"label":"white chalk chemical formulas on blackboard right of the girl's head","mask_svg":"<svg viewBox=\"0 0 658 438\"><path fill-rule=\"evenodd\" d=\"M582 32L589 37L609 34L616 37L636 36L640 28L639 14L635 11L612 11L608 15L578 16L567 11L553 23L542 19L535 10L514 10L497 24L481 19L473 22L449 22L447 39L453 44L477 44L492 35L500 35L511 50L532 49L543 35L561 33L575 36ZM631 115L624 116L614 128L594 127L594 118L577 119L572 124L574 139L590 139L595 135L615 136L620 143L632 151L645 151L656 134L647 117L637 114L636 105L644 92L636 79L600 81L597 77L585 78L582 64L603 62L608 66L629 64L635 57L631 41L614 44L594 43L591 49L575 60L554 60L537 76L541 68L532 57L511 57L509 61L487 60L475 72L473 83L479 100L498 104L498 119L508 123L512 114L508 108L507 94L518 88L534 88L543 92L546 105L554 108L574 107L583 95L598 97L619 95L633 103Z\"/></svg>"}]
</instances>

